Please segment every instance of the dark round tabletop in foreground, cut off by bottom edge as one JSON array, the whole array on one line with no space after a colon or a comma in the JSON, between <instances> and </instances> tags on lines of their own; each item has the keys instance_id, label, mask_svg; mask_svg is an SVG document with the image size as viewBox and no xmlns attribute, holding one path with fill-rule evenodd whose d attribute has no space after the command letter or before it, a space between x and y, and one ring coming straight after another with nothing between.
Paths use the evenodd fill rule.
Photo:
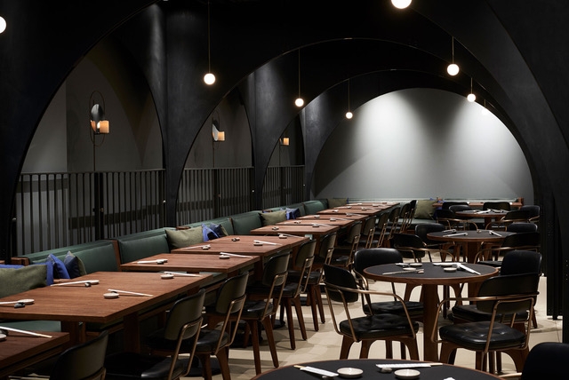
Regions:
<instances>
[{"instance_id":1,"label":"dark round tabletop in foreground, cut off by bottom edge","mask_svg":"<svg viewBox=\"0 0 569 380\"><path fill-rule=\"evenodd\" d=\"M397 377L393 372L391 373L381 373L380 368L377 364L408 364L413 365L413 363L426 364L425 361L413 361L413 360L384 360L384 359L348 359L348 360L323 360L314 361L309 363L301 363L301 366L309 366L312 368L325 369L327 371L335 372L339 368L359 368L364 371L362 376L358 377L362 380L391 380ZM439 364L434 363L432 367L419 368L415 367L413 369L421 372L421 380L443 380L446 378L455 378L461 380L492 380L500 378L498 376L493 376L487 372L481 372L477 369L463 368L458 366L453 366L449 364ZM394 370L395 372L395 370ZM294 366L284 366L281 368L270 369L267 372L263 372L260 375L253 377L253 380L315 380L317 378L323 378L316 374L301 370ZM334 379L340 378L339 376L334 376Z\"/></svg>"}]
</instances>

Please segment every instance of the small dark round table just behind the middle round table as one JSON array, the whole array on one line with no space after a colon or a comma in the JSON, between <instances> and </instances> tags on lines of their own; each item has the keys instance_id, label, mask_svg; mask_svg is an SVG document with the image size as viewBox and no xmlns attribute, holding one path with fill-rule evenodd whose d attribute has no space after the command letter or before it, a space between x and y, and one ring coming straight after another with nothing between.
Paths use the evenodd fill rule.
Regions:
<instances>
[{"instance_id":1,"label":"small dark round table just behind the middle round table","mask_svg":"<svg viewBox=\"0 0 569 380\"><path fill-rule=\"evenodd\" d=\"M461 244L462 256L469 263L474 263L474 257L480 249L483 242L491 242L493 244L501 244L504 238L510 234L507 231L492 231L492 230L477 230L477 231L456 231L429 233L427 237L434 241L453 241L454 243Z\"/></svg>"}]
</instances>

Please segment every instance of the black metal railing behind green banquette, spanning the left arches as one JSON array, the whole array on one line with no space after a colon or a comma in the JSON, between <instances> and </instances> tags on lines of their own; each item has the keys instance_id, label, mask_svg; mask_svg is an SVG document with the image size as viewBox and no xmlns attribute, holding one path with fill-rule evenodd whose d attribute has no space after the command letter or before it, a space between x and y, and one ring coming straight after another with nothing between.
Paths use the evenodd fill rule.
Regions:
<instances>
[{"instance_id":1,"label":"black metal railing behind green banquette, spanning the left arches","mask_svg":"<svg viewBox=\"0 0 569 380\"><path fill-rule=\"evenodd\" d=\"M12 255L111 239L165 226L165 171L20 175ZM268 168L263 208L303 201L304 167ZM178 225L253 210L253 168L186 169Z\"/></svg>"}]
</instances>

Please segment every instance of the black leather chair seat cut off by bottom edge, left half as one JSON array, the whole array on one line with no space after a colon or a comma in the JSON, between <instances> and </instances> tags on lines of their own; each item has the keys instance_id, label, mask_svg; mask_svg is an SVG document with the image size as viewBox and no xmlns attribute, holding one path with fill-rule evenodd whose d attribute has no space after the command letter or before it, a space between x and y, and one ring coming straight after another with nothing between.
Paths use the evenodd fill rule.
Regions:
<instances>
[{"instance_id":1,"label":"black leather chair seat cut off by bottom edge, left half","mask_svg":"<svg viewBox=\"0 0 569 380\"><path fill-rule=\"evenodd\" d=\"M184 361L186 361L184 363ZM135 352L122 352L111 354L105 359L107 380L151 378L153 380L167 380L170 371L171 358L154 355L140 355ZM174 367L172 378L184 374L188 360L178 360Z\"/></svg>"}]
</instances>

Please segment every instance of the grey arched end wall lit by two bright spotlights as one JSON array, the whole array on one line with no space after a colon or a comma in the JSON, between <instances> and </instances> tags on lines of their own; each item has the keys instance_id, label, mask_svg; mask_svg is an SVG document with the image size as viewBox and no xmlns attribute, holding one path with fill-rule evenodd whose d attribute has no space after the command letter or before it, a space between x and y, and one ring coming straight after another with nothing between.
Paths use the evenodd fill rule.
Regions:
<instances>
[{"instance_id":1,"label":"grey arched end wall lit by two bright spotlights","mask_svg":"<svg viewBox=\"0 0 569 380\"><path fill-rule=\"evenodd\" d=\"M314 197L495 199L533 203L516 139L484 107L451 92L385 94L354 111L317 160Z\"/></svg>"}]
</instances>

